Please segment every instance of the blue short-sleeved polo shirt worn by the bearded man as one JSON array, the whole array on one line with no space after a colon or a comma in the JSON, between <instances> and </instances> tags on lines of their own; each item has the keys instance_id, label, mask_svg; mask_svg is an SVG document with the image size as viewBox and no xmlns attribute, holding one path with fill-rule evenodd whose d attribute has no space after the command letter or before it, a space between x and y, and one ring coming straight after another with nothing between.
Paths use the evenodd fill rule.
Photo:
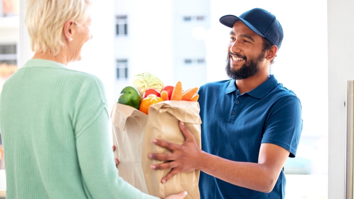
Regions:
<instances>
[{"instance_id":1,"label":"blue short-sleeved polo shirt worn by the bearded man","mask_svg":"<svg viewBox=\"0 0 354 199\"><path fill-rule=\"evenodd\" d=\"M262 143L273 143L295 157L302 131L301 104L274 75L252 91L242 93L235 80L207 83L199 89L202 150L242 162L258 162ZM270 193L235 186L201 172L201 199L284 198L282 169Z\"/></svg>"}]
</instances>

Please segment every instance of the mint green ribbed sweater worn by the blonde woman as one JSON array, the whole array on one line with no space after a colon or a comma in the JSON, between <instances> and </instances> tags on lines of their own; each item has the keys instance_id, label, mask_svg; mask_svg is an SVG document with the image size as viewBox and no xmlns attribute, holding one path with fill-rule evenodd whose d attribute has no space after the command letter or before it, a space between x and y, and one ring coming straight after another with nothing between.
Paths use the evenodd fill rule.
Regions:
<instances>
[{"instance_id":1,"label":"mint green ribbed sweater worn by the blonde woman","mask_svg":"<svg viewBox=\"0 0 354 199\"><path fill-rule=\"evenodd\" d=\"M118 176L108 122L96 76L29 60L0 97L6 198L155 198Z\"/></svg>"}]
</instances>

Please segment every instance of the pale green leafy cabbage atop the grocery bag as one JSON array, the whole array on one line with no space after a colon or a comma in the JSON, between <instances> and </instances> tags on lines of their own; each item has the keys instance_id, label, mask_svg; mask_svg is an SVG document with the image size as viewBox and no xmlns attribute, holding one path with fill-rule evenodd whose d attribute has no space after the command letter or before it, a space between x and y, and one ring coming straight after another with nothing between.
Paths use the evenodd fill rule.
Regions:
<instances>
[{"instance_id":1,"label":"pale green leafy cabbage atop the grocery bag","mask_svg":"<svg viewBox=\"0 0 354 199\"><path fill-rule=\"evenodd\" d=\"M139 91L141 96L143 96L146 89L154 88L160 92L164 87L164 83L156 75L149 72L133 76L131 85Z\"/></svg>"}]
</instances>

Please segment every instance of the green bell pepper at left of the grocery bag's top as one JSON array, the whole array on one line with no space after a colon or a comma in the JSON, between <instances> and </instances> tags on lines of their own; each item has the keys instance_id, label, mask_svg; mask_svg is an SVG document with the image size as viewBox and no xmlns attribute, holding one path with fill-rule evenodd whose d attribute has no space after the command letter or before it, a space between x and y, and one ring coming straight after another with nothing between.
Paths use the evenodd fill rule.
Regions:
<instances>
[{"instance_id":1,"label":"green bell pepper at left of the grocery bag's top","mask_svg":"<svg viewBox=\"0 0 354 199\"><path fill-rule=\"evenodd\" d=\"M126 86L120 91L117 102L139 109L141 100L140 93L135 87Z\"/></svg>"}]
</instances>

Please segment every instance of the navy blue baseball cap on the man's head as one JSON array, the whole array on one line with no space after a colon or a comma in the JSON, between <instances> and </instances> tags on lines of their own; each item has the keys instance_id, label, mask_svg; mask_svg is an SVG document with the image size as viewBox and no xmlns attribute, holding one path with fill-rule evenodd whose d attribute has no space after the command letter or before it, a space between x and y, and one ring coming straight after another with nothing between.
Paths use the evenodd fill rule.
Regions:
<instances>
[{"instance_id":1,"label":"navy blue baseball cap on the man's head","mask_svg":"<svg viewBox=\"0 0 354 199\"><path fill-rule=\"evenodd\" d=\"M276 45L278 49L284 37L283 29L276 17L262 8L253 8L239 17L225 15L220 17L219 21L230 28L236 21L241 21L258 35L268 39L272 45Z\"/></svg>"}]
</instances>

